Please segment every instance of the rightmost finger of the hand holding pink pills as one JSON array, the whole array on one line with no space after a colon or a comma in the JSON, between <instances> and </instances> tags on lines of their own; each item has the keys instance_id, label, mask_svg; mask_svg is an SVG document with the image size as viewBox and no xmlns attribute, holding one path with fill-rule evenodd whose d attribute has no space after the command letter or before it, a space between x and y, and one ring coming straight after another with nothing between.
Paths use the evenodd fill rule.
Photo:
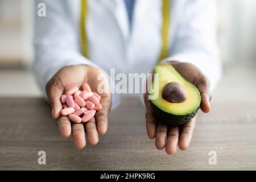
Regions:
<instances>
[{"instance_id":1,"label":"rightmost finger of the hand holding pink pills","mask_svg":"<svg viewBox=\"0 0 256 182\"><path fill-rule=\"evenodd\" d=\"M101 135L106 134L106 131L108 129L108 117L109 117L109 111L111 108L111 96L110 94L106 94L106 96L101 97L101 105L102 109L97 111L95 118L97 123L97 131Z\"/></svg>"}]
</instances>

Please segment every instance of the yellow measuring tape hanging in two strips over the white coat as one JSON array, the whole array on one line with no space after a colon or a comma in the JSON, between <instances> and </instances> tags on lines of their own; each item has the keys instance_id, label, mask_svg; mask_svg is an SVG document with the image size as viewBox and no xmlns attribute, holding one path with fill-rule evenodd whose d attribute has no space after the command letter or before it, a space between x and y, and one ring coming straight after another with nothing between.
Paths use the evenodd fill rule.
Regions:
<instances>
[{"instance_id":1,"label":"yellow measuring tape hanging in two strips over the white coat","mask_svg":"<svg viewBox=\"0 0 256 182\"><path fill-rule=\"evenodd\" d=\"M162 46L158 61L165 59L169 51L169 28L170 28L170 13L171 0L162 0L162 30L161 40ZM86 20L88 14L87 0L81 0L81 16L80 16L80 43L82 55L89 59L88 37L86 34Z\"/></svg>"}]
</instances>

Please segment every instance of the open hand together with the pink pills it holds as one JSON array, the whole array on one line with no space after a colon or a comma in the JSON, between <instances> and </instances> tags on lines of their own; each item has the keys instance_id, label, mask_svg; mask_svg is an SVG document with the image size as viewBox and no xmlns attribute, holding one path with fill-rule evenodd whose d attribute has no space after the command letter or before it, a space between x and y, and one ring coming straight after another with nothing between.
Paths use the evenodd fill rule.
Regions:
<instances>
[{"instance_id":1,"label":"open hand together with the pink pills it holds","mask_svg":"<svg viewBox=\"0 0 256 182\"><path fill-rule=\"evenodd\" d=\"M57 119L60 134L67 138L72 134L76 148L84 148L87 142L98 143L98 134L108 128L111 94L97 91L102 81L97 80L101 69L86 65L68 66L60 69L46 86L52 117Z\"/></svg>"}]
</instances>

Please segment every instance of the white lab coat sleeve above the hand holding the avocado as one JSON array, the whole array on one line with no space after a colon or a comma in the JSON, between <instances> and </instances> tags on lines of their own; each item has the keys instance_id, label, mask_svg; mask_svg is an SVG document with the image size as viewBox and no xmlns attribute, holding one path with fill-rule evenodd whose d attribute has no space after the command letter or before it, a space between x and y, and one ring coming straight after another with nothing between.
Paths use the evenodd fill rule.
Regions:
<instances>
[{"instance_id":1,"label":"white lab coat sleeve above the hand holding the avocado","mask_svg":"<svg viewBox=\"0 0 256 182\"><path fill-rule=\"evenodd\" d=\"M168 61L196 65L210 80L210 90L221 77L221 63L216 43L216 5L214 1L183 1L178 10L177 30Z\"/></svg>"}]
</instances>

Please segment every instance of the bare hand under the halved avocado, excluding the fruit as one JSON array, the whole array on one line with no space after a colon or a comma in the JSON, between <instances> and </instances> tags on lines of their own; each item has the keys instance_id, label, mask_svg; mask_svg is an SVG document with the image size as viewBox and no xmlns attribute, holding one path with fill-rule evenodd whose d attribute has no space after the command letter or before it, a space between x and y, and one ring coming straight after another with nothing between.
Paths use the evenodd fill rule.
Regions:
<instances>
[{"instance_id":1,"label":"bare hand under the halved avocado, excluding the fruit","mask_svg":"<svg viewBox=\"0 0 256 182\"><path fill-rule=\"evenodd\" d=\"M201 94L200 109L204 113L210 111L210 89L208 78L200 71L199 68L191 63L180 63L178 61L165 62L160 64L170 64L177 72L179 72L189 82L194 84ZM191 119L184 126L171 127L164 123L159 123L154 114L150 101L148 100L148 94L144 96L146 105L146 129L147 135L150 139L155 139L155 146L159 150L166 149L166 153L173 155L176 153L178 147L180 150L187 150L192 139L193 131L196 126L196 117Z\"/></svg>"}]
</instances>

